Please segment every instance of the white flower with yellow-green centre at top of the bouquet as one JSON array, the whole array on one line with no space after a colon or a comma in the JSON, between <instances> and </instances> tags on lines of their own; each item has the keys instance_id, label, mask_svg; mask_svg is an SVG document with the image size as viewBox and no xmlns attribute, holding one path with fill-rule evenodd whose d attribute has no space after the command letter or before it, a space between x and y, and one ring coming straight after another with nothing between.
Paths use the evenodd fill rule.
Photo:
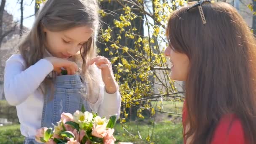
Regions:
<instances>
[{"instance_id":1,"label":"white flower with yellow-green centre at top of the bouquet","mask_svg":"<svg viewBox=\"0 0 256 144\"><path fill-rule=\"evenodd\" d=\"M73 118L76 123L90 122L93 119L93 114L90 112L83 113L77 110Z\"/></svg>"}]
</instances>

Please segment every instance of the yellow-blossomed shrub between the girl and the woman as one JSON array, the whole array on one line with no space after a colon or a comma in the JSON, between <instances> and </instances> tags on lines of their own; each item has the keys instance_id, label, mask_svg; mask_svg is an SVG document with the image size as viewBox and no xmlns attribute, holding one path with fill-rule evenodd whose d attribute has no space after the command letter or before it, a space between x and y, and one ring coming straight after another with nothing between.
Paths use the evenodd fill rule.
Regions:
<instances>
[{"instance_id":1,"label":"yellow-blossomed shrub between the girl and the woman","mask_svg":"<svg viewBox=\"0 0 256 144\"><path fill-rule=\"evenodd\" d=\"M162 48L167 44L164 33L168 15L185 2L180 0L176 4L177 1L173 1L173 7L165 0L100 2L104 24L99 36L99 48L101 54L111 59L115 66L122 105L126 108L138 107L137 116L144 118L144 110L151 112L152 116L155 111L162 111L161 102L152 106L151 101L183 99L168 76L169 68ZM147 35L141 32L143 27L147 29ZM154 91L156 87L158 90ZM129 112L125 109L122 112L122 121L125 122Z\"/></svg>"}]
</instances>

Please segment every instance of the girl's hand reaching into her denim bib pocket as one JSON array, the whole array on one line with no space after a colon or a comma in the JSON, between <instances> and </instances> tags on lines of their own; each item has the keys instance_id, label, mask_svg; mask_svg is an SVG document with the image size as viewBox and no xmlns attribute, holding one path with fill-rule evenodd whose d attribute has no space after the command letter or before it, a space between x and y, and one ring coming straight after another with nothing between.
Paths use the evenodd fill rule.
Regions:
<instances>
[{"instance_id":1,"label":"girl's hand reaching into her denim bib pocket","mask_svg":"<svg viewBox=\"0 0 256 144\"><path fill-rule=\"evenodd\" d=\"M57 57L46 57L44 59L50 61L51 64L53 64L53 70L58 74L61 73L61 68L66 69L68 75L74 75L75 72L78 70L77 64L67 59L61 59Z\"/></svg>"}]
</instances>

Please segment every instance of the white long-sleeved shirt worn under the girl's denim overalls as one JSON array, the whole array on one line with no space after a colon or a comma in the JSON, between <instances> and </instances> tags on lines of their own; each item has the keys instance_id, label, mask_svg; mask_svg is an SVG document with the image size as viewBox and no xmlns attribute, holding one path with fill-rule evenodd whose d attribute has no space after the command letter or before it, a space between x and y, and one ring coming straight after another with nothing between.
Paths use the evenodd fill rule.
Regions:
<instances>
[{"instance_id":1,"label":"white long-sleeved shirt worn under the girl's denim overalls","mask_svg":"<svg viewBox=\"0 0 256 144\"><path fill-rule=\"evenodd\" d=\"M20 54L12 55L6 61L5 98L9 104L17 108L23 136L35 138L36 130L40 128L44 96L38 87L51 71L53 71L53 65L46 59L37 61L27 69ZM90 106L100 116L109 116L120 114L120 104L120 93L117 91L109 94L104 85L101 85L98 101Z\"/></svg>"}]
</instances>

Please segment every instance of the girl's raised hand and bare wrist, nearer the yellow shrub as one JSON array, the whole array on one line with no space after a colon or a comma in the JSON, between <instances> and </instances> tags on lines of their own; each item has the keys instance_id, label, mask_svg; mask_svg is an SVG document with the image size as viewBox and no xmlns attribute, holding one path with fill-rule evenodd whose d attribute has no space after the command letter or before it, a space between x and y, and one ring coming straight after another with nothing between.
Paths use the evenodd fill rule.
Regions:
<instances>
[{"instance_id":1,"label":"girl's raised hand and bare wrist, nearer the yellow shrub","mask_svg":"<svg viewBox=\"0 0 256 144\"><path fill-rule=\"evenodd\" d=\"M90 65L94 63L99 69L101 69L101 77L105 84L107 93L115 93L118 86L115 81L111 62L103 56L97 56L88 62Z\"/></svg>"}]
</instances>

